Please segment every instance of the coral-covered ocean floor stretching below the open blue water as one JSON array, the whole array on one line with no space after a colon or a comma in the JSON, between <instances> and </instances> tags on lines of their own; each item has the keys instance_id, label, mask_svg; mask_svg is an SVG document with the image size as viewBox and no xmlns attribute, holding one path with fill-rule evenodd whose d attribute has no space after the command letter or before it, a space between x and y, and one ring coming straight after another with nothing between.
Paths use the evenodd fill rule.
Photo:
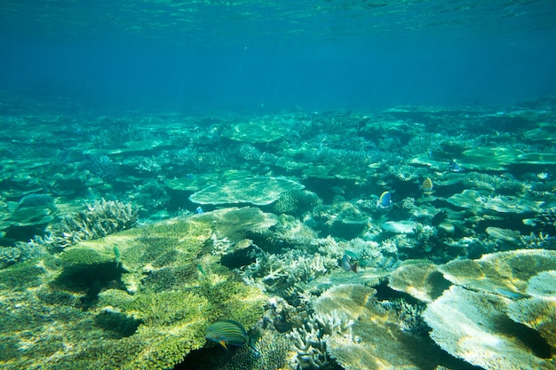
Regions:
<instances>
[{"instance_id":1,"label":"coral-covered ocean floor stretching below the open blue water","mask_svg":"<svg viewBox=\"0 0 556 370\"><path fill-rule=\"evenodd\" d=\"M556 98L3 112L3 369L556 368Z\"/></svg>"}]
</instances>

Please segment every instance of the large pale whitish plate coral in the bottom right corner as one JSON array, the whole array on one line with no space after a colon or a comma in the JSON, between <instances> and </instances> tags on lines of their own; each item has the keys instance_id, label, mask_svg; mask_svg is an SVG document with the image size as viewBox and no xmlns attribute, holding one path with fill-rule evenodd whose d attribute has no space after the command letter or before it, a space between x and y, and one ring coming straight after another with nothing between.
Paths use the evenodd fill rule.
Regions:
<instances>
[{"instance_id":1,"label":"large pale whitish plate coral in the bottom right corner","mask_svg":"<svg viewBox=\"0 0 556 370\"><path fill-rule=\"evenodd\" d=\"M507 323L508 298L454 286L424 312L443 350L488 370L552 369L554 358L535 353ZM504 321L505 319L505 321ZM536 349L538 350L538 349Z\"/></svg>"}]
</instances>

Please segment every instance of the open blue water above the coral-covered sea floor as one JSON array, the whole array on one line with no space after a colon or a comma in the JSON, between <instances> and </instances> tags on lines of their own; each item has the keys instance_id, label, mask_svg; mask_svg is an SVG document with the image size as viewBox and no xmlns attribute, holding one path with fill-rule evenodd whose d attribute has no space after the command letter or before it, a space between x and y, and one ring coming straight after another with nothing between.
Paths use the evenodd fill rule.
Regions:
<instances>
[{"instance_id":1,"label":"open blue water above the coral-covered sea floor","mask_svg":"<svg viewBox=\"0 0 556 370\"><path fill-rule=\"evenodd\" d=\"M265 114L556 92L553 1L3 1L0 91Z\"/></svg>"}]
</instances>

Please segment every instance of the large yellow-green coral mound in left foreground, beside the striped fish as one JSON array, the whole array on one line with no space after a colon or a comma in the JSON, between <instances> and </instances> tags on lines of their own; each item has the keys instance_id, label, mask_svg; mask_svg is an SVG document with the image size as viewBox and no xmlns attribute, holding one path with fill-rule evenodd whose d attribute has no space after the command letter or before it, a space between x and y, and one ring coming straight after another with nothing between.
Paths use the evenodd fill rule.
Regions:
<instances>
[{"instance_id":1,"label":"large yellow-green coral mound in left foreground, beside the striped fish","mask_svg":"<svg viewBox=\"0 0 556 370\"><path fill-rule=\"evenodd\" d=\"M168 369L203 347L213 321L252 327L266 299L208 253L213 232L176 219L77 243L59 264L4 269L0 367Z\"/></svg>"}]
</instances>

